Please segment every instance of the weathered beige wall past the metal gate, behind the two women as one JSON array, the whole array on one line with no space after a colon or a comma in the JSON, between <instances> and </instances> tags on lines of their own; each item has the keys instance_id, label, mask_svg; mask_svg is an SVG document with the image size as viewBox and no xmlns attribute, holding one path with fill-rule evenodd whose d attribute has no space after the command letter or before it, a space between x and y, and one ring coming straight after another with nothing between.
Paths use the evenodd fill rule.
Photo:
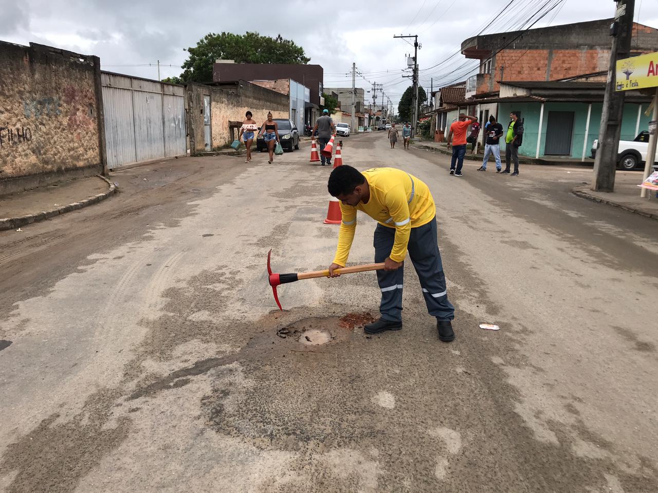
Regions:
<instances>
[{"instance_id":1,"label":"weathered beige wall past the metal gate, behind the two women","mask_svg":"<svg viewBox=\"0 0 658 493\"><path fill-rule=\"evenodd\" d=\"M203 95L211 97L211 147L220 149L230 145L237 131L231 135L232 122L241 124L245 113L251 111L253 119L261 125L267 120L267 112L274 118L289 118L290 98L246 81L205 85L188 83L188 131L190 153L205 151L203 131Z\"/></svg>"}]
</instances>

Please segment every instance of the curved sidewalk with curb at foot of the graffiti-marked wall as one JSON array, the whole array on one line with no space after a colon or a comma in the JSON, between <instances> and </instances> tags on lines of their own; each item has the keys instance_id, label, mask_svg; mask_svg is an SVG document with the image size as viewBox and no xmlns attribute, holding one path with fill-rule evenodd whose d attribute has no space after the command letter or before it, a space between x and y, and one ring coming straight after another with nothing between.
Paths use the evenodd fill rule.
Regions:
<instances>
[{"instance_id":1,"label":"curved sidewalk with curb at foot of the graffiti-marked wall","mask_svg":"<svg viewBox=\"0 0 658 493\"><path fill-rule=\"evenodd\" d=\"M20 193L0 195L0 231L43 221L110 197L113 183L101 176L53 183Z\"/></svg>"}]
</instances>

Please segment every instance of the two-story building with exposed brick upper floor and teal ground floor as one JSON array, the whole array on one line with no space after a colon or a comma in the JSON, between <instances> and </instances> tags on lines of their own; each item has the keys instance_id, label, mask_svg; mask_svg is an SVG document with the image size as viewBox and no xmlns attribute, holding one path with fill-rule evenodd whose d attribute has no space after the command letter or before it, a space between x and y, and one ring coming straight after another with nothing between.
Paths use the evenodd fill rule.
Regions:
<instances>
[{"instance_id":1,"label":"two-story building with exposed brick upper floor and teal ground floor","mask_svg":"<svg viewBox=\"0 0 658 493\"><path fill-rule=\"evenodd\" d=\"M519 154L584 159L599 135L611 22L593 20L466 39L462 54L480 60L479 73L466 82L465 98L475 105L471 114L482 122L496 115L505 126L509 113L519 111L525 127ZM658 30L635 23L631 46L631 56L658 51ZM638 91L627 91L622 139L633 139L638 130L647 129L650 101Z\"/></svg>"}]
</instances>

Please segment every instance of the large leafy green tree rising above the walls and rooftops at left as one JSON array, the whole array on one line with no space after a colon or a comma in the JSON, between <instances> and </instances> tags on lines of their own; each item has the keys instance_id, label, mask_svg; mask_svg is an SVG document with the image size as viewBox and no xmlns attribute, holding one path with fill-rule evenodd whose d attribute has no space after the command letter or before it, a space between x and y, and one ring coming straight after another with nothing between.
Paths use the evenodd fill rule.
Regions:
<instances>
[{"instance_id":1,"label":"large leafy green tree rising above the walls and rooftops at left","mask_svg":"<svg viewBox=\"0 0 658 493\"><path fill-rule=\"evenodd\" d=\"M304 49L294 41L261 36L257 32L245 34L209 33L195 47L183 63L180 78L185 82L212 82L213 64L216 59L235 60L236 63L308 63L311 61Z\"/></svg>"}]
</instances>

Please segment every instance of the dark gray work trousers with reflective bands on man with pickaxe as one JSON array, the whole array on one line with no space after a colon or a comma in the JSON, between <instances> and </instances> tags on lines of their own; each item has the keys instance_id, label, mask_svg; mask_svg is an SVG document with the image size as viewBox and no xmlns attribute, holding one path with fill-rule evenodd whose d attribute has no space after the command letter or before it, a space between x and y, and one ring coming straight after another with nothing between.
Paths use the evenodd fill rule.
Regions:
<instances>
[{"instance_id":1,"label":"dark gray work trousers with reflective bands on man with pickaxe","mask_svg":"<svg viewBox=\"0 0 658 493\"><path fill-rule=\"evenodd\" d=\"M374 261L384 262L391 254L395 241L395 229L378 224L374 231ZM455 318L455 307L448 301L445 289L445 276L436 235L436 220L420 227L411 228L407 245L409 258L420 279L420 287L430 315L438 320ZM377 283L382 290L379 311L382 318L392 321L402 320L402 286L404 265L398 270L377 271Z\"/></svg>"}]
</instances>

